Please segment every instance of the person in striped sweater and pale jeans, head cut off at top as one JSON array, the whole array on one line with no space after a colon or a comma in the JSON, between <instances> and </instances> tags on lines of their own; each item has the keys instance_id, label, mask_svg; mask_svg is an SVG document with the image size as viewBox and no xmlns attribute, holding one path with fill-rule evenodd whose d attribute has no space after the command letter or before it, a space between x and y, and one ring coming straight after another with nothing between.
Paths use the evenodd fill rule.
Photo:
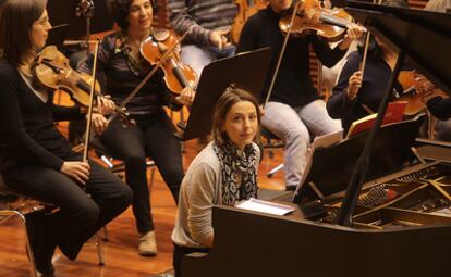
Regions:
<instances>
[{"instance_id":1,"label":"person in striped sweater and pale jeans, head cut off at top","mask_svg":"<svg viewBox=\"0 0 451 277\"><path fill-rule=\"evenodd\" d=\"M235 53L235 46L230 42L237 13L234 0L168 0L168 10L175 32L190 32L182 47L182 61L198 77L210 62Z\"/></svg>"}]
</instances>

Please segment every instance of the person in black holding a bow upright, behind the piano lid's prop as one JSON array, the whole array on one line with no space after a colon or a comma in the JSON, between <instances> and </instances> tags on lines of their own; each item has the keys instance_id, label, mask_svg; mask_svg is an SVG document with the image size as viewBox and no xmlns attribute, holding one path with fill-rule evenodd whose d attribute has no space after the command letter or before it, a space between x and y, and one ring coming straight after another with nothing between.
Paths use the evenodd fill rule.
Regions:
<instances>
[{"instance_id":1,"label":"person in black holding a bow upright, behind the piano lid's prop","mask_svg":"<svg viewBox=\"0 0 451 277\"><path fill-rule=\"evenodd\" d=\"M382 4L407 7L403 0L388 0ZM354 121L377 112L398 53L371 35L365 65L362 65L363 56L363 47L350 53L327 103L329 115L341 119L345 131ZM362 76L361 66L365 66L365 76ZM403 68L407 67L404 65ZM397 93L392 99L403 93L400 83L394 84L394 90Z\"/></svg>"}]
</instances>

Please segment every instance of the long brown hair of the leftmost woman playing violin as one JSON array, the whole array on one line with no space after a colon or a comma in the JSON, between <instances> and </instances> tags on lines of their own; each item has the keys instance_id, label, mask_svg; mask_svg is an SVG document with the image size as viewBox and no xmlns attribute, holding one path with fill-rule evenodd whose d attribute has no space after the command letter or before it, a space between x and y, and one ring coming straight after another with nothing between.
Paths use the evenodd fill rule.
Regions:
<instances>
[{"instance_id":1,"label":"long brown hair of the leftmost woman playing violin","mask_svg":"<svg viewBox=\"0 0 451 277\"><path fill-rule=\"evenodd\" d=\"M32 49L29 30L46 10L47 0L7 0L0 8L0 49L12 65Z\"/></svg>"}]
</instances>

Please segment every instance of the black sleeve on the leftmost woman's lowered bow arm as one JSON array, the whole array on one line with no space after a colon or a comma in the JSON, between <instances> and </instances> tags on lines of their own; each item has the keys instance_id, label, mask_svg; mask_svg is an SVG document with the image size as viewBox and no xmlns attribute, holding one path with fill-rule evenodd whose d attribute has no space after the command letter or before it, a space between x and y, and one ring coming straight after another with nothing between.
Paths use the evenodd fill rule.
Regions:
<instances>
[{"instance_id":1,"label":"black sleeve on the leftmost woman's lowered bow arm","mask_svg":"<svg viewBox=\"0 0 451 277\"><path fill-rule=\"evenodd\" d=\"M36 163L60 171L64 161L39 146L26 133L17 99L17 86L3 74L0 76L0 130L5 140Z\"/></svg>"}]
</instances>

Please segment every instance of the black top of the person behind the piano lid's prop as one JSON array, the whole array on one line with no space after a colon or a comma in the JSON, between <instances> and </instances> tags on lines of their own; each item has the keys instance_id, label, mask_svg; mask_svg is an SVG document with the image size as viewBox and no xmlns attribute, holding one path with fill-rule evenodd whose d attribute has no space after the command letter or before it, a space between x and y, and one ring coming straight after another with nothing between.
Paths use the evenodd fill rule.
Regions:
<instances>
[{"instance_id":1,"label":"black top of the person behind the piano lid's prop","mask_svg":"<svg viewBox=\"0 0 451 277\"><path fill-rule=\"evenodd\" d=\"M350 53L327 102L329 115L332 118L341 119L345 131L354 121L368 115L368 112L363 108L364 105L373 112L377 112L392 74L392 70L382 58L367 59L362 87L357 97L351 101L346 95L349 79L354 72L359 70L361 62L362 54L358 51ZM402 93L401 84L397 81L394 88L400 95Z\"/></svg>"}]
</instances>

